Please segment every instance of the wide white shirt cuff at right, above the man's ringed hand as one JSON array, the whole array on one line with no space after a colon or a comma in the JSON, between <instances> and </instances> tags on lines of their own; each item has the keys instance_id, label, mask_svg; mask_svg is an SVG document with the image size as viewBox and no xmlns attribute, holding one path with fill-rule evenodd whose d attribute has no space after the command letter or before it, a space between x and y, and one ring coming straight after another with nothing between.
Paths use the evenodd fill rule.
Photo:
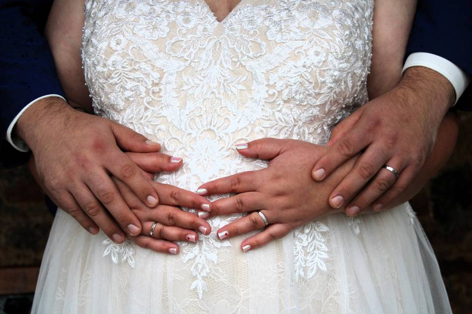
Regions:
<instances>
[{"instance_id":1,"label":"wide white shirt cuff at right, above the man's ringed hand","mask_svg":"<svg viewBox=\"0 0 472 314\"><path fill-rule=\"evenodd\" d=\"M471 82L471 77L462 71L461 68L436 54L428 52L414 52L410 54L403 66L402 75L406 69L416 66L429 68L447 78L456 92L454 105Z\"/></svg>"}]
</instances>

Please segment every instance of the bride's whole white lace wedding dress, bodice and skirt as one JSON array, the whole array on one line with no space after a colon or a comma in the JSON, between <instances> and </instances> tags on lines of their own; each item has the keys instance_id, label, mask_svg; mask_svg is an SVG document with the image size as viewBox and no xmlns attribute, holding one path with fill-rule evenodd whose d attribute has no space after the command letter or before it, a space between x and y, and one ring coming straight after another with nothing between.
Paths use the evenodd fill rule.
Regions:
<instances>
[{"instance_id":1,"label":"bride's whole white lace wedding dress, bodice and skirt","mask_svg":"<svg viewBox=\"0 0 472 314\"><path fill-rule=\"evenodd\" d=\"M183 157L156 180L195 190L266 162L235 143L323 144L367 101L373 0L86 0L83 63L97 114ZM59 209L32 313L450 313L412 209L333 214L264 248L215 232L177 256L89 235Z\"/></svg>"}]
</instances>

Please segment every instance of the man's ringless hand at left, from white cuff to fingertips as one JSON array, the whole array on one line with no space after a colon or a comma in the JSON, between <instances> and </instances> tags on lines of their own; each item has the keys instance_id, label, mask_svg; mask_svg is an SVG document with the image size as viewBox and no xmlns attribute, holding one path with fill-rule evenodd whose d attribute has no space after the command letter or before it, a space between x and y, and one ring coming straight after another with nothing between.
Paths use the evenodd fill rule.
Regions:
<instances>
[{"instance_id":1,"label":"man's ringless hand at left, from white cuff to fingertips","mask_svg":"<svg viewBox=\"0 0 472 314\"><path fill-rule=\"evenodd\" d=\"M116 122L75 110L59 98L45 98L32 105L18 120L15 131L33 153L34 167L30 168L36 181L82 227L94 235L101 228L116 243L125 240L123 231L142 233L139 219L110 175L125 183L148 207L157 206L155 189L123 151L157 152L158 143ZM163 162L173 161L166 158L169 160ZM176 169L179 163L181 159L174 160Z\"/></svg>"}]
</instances>

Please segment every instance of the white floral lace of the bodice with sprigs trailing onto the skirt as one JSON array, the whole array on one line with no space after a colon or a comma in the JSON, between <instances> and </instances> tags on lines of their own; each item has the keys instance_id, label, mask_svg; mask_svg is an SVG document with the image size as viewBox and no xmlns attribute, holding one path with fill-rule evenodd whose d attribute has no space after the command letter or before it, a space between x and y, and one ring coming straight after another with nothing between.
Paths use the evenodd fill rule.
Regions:
<instances>
[{"instance_id":1,"label":"white floral lace of the bodice with sprigs trailing onto the skirt","mask_svg":"<svg viewBox=\"0 0 472 314\"><path fill-rule=\"evenodd\" d=\"M87 0L83 63L93 107L184 159L161 182L195 190L261 169L266 163L240 157L235 143L323 144L367 101L372 11L373 0L241 0L218 23L203 0ZM215 231L237 217L209 223ZM296 278L324 269L327 230L319 221L295 231ZM134 265L129 243L106 245L105 255ZM218 250L229 246L211 235L182 244L200 296Z\"/></svg>"}]
</instances>

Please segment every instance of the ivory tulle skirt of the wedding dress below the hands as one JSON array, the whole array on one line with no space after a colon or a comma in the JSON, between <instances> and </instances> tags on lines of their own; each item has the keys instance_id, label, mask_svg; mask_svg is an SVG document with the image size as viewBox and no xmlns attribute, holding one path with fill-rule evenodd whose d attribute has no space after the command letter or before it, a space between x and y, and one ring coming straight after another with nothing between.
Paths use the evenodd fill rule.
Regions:
<instances>
[{"instance_id":1,"label":"ivory tulle skirt of the wedding dress below the hands","mask_svg":"<svg viewBox=\"0 0 472 314\"><path fill-rule=\"evenodd\" d=\"M32 313L451 313L408 203L332 214L246 253L245 237L219 241L216 230L171 256L89 235L59 209Z\"/></svg>"}]
</instances>

